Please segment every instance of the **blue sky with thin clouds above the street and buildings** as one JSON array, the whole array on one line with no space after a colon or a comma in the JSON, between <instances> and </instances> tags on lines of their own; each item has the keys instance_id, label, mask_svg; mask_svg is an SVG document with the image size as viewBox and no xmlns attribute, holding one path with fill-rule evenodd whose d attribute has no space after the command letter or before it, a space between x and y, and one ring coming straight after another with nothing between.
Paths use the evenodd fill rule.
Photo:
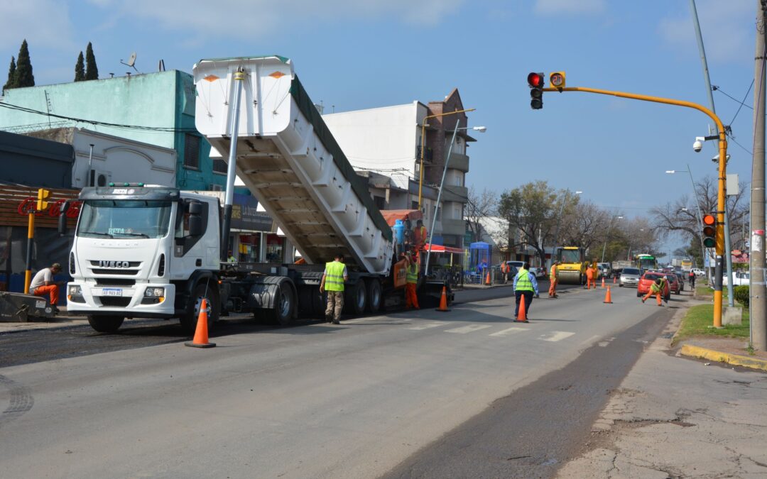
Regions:
<instances>
[{"instance_id":1,"label":"blue sky with thin clouds above the street and buildings","mask_svg":"<svg viewBox=\"0 0 767 479\"><path fill-rule=\"evenodd\" d=\"M742 99L753 78L755 2L698 0L711 82ZM564 70L569 86L624 90L706 104L687 0L5 0L0 68L29 43L37 84L70 81L93 42L101 77L191 71L205 57L291 57L328 111L438 100L458 87L472 125L467 185L496 191L535 179L580 189L627 215L690 192L666 175L690 164L713 175L713 144L693 153L711 123L680 107L600 95L545 94L529 107L529 71ZM5 70L0 70L5 80ZM714 93L731 123L739 104ZM752 94L746 97L752 104ZM65 112L57 112L65 114ZM749 182L752 110L732 122L729 172ZM746 151L747 150L747 151Z\"/></svg>"}]
</instances>

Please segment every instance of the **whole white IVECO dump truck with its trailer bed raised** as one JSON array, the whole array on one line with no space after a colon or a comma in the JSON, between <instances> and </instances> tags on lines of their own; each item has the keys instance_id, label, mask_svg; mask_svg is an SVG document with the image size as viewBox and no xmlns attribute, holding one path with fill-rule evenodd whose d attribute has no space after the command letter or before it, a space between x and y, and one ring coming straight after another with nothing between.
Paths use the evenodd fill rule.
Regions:
<instances>
[{"instance_id":1,"label":"whole white IVECO dump truck with its trailer bed raised","mask_svg":"<svg viewBox=\"0 0 767 479\"><path fill-rule=\"evenodd\" d=\"M348 313L401 304L402 235L372 202L291 61L219 58L200 61L193 72L197 129L224 159L229 152L224 205L165 186L84 188L69 258L68 312L87 315L101 332L117 330L126 317L179 317L192 332L206 298L209 326L233 312L288 325L299 314L324 312L319 283L337 253L350 272ZM222 262L235 172L305 264ZM442 290L443 282L420 278L423 300L438 299Z\"/></svg>"}]
</instances>

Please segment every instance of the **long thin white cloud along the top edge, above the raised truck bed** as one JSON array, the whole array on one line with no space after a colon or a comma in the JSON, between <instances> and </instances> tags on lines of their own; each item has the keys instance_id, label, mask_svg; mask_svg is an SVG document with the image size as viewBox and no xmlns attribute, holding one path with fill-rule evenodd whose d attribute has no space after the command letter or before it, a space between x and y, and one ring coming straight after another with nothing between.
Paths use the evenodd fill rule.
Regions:
<instances>
[{"instance_id":1,"label":"long thin white cloud along the top edge, above the raised truck bed","mask_svg":"<svg viewBox=\"0 0 767 479\"><path fill-rule=\"evenodd\" d=\"M156 21L163 28L191 29L201 38L252 39L291 34L298 23L328 23L354 18L395 18L414 25L436 25L466 0L90 0L117 8L127 18Z\"/></svg>"}]
</instances>

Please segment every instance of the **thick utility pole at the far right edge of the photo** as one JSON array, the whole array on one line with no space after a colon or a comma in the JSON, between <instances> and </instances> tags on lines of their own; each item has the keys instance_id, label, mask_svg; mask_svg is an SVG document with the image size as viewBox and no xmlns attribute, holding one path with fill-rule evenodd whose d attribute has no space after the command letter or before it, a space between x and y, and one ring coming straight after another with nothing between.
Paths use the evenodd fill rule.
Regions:
<instances>
[{"instance_id":1,"label":"thick utility pole at the far right edge of the photo","mask_svg":"<svg viewBox=\"0 0 767 479\"><path fill-rule=\"evenodd\" d=\"M767 350L765 297L765 5L756 0L754 156L751 165L751 343Z\"/></svg>"}]
</instances>

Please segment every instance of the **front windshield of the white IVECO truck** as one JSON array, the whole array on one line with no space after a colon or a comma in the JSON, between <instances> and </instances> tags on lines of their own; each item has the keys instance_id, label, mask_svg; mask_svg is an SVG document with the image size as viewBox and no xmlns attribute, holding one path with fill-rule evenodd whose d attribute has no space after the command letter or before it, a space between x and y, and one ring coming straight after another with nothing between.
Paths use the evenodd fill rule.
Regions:
<instances>
[{"instance_id":1,"label":"front windshield of the white IVECO truck","mask_svg":"<svg viewBox=\"0 0 767 479\"><path fill-rule=\"evenodd\" d=\"M170 225L170 202L143 200L86 201L77 236L91 238L163 238Z\"/></svg>"}]
</instances>

